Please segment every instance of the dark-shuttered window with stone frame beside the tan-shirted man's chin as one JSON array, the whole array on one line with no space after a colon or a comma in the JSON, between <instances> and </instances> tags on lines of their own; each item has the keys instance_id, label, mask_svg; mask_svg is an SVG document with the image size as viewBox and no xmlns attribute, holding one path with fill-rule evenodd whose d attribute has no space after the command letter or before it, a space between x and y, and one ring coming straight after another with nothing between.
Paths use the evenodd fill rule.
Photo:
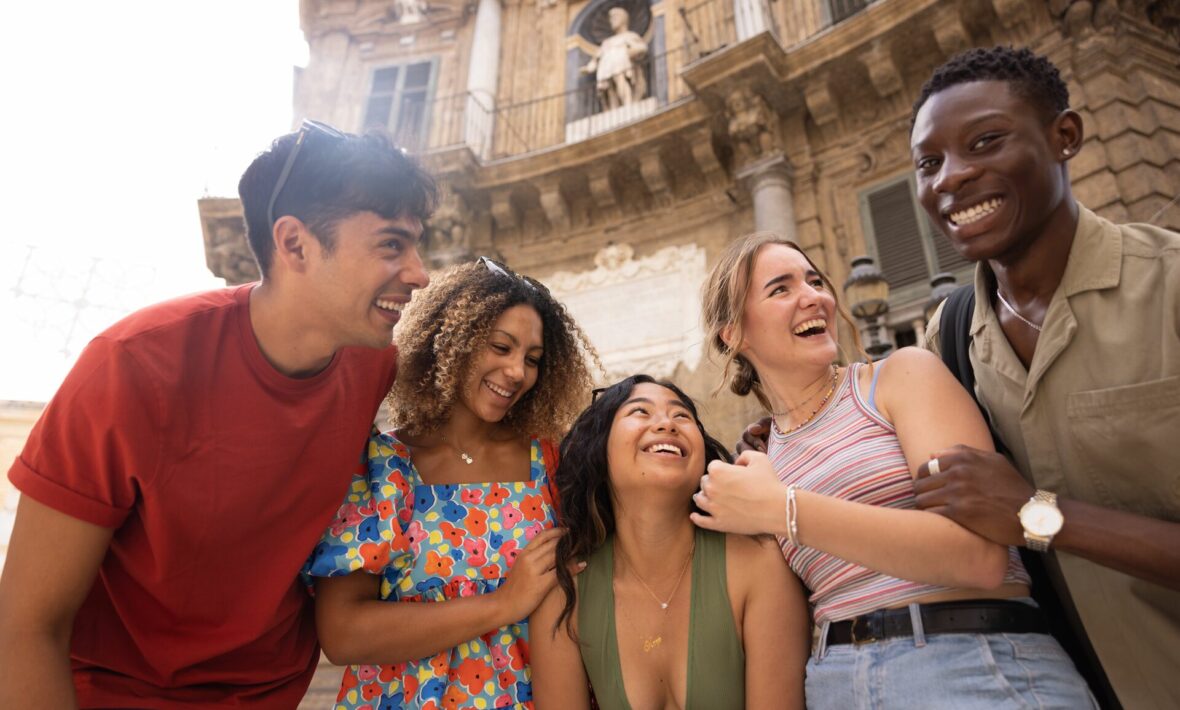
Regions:
<instances>
[{"instance_id":1,"label":"dark-shuttered window with stone frame beside the tan-shirted man's chin","mask_svg":"<svg viewBox=\"0 0 1180 710\"><path fill-rule=\"evenodd\" d=\"M927 290L936 274L968 267L950 241L930 224L910 175L861 192L860 215L868 251L893 294Z\"/></svg>"}]
</instances>

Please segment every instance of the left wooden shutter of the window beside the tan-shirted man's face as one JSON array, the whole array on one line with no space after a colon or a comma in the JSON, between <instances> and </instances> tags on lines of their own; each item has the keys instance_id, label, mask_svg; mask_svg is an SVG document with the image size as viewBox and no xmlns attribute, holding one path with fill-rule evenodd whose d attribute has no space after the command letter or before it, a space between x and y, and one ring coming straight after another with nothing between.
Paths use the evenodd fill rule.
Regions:
<instances>
[{"instance_id":1,"label":"left wooden shutter of the window beside the tan-shirted man's face","mask_svg":"<svg viewBox=\"0 0 1180 710\"><path fill-rule=\"evenodd\" d=\"M871 232L877 242L877 263L891 288L930 278L922 228L914 211L910 180L898 180L866 197Z\"/></svg>"}]
</instances>

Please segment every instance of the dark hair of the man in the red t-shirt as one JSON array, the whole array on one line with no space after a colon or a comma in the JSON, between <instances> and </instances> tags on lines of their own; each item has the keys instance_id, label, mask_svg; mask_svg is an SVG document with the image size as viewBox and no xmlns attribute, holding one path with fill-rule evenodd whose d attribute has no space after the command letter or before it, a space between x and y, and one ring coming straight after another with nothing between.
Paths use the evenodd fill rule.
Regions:
<instances>
[{"instance_id":1,"label":"dark hair of the man in the red t-shirt","mask_svg":"<svg viewBox=\"0 0 1180 710\"><path fill-rule=\"evenodd\" d=\"M263 277L275 255L274 225L267 216L267 205L297 137L296 131L276 138L269 150L250 163L237 184L245 235ZM388 136L345 133L339 139L304 140L275 202L275 218L297 217L324 250L332 251L341 219L358 212L376 212L386 219L408 216L425 221L437 204L434 178Z\"/></svg>"}]
</instances>

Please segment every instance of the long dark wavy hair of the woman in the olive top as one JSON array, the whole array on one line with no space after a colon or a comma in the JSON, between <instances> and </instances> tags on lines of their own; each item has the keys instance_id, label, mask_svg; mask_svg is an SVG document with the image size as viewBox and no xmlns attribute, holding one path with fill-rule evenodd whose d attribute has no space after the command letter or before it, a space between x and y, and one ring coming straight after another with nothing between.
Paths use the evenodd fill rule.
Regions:
<instances>
[{"instance_id":1,"label":"long dark wavy hair of the woman in the olive top","mask_svg":"<svg viewBox=\"0 0 1180 710\"><path fill-rule=\"evenodd\" d=\"M569 565L575 560L589 558L615 532L607 442L610 439L611 425L615 422L615 413L631 396L631 390L637 384L647 383L658 384L676 393L677 399L691 412L696 428L704 438L706 466L717 459L727 462L732 460L726 447L704 430L693 399L671 382L656 380L650 375L631 375L610 387L596 390L595 400L578 415L570 433L562 440L560 464L553 474L560 499L560 525L568 531L557 541L557 584L565 592L565 606L557 617L553 631L556 632L557 626L564 622L570 638L575 638L572 614L577 601L577 585ZM688 515L687 510L684 514Z\"/></svg>"}]
</instances>

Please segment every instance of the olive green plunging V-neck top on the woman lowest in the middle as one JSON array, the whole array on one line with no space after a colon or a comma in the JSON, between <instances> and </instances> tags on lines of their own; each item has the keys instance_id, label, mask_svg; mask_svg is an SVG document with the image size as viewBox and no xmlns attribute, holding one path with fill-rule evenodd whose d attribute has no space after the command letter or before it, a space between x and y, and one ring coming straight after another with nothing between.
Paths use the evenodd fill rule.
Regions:
<instances>
[{"instance_id":1,"label":"olive green plunging V-neck top on the woman lowest in the middle","mask_svg":"<svg viewBox=\"0 0 1180 710\"><path fill-rule=\"evenodd\" d=\"M615 633L615 537L578 574L582 663L602 710L630 710L623 690ZM686 710L741 709L746 704L746 655L726 589L726 537L697 528L688 612Z\"/></svg>"}]
</instances>

